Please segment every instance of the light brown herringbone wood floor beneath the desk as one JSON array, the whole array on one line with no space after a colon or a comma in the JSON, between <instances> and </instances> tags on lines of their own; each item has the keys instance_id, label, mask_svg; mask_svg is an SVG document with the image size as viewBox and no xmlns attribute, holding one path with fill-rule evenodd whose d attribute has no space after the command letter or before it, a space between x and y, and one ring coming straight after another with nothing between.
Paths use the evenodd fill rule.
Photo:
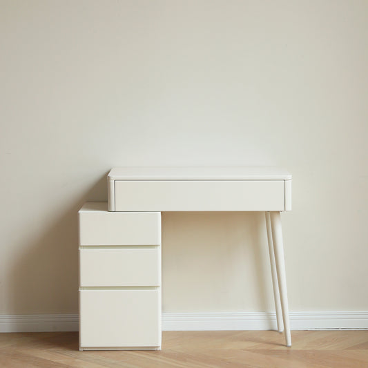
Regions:
<instances>
[{"instance_id":1,"label":"light brown herringbone wood floor beneath the desk","mask_svg":"<svg viewBox=\"0 0 368 368\"><path fill-rule=\"evenodd\" d=\"M79 351L77 332L1 333L0 367L368 367L368 331L165 331L162 351Z\"/></svg>"}]
</instances>

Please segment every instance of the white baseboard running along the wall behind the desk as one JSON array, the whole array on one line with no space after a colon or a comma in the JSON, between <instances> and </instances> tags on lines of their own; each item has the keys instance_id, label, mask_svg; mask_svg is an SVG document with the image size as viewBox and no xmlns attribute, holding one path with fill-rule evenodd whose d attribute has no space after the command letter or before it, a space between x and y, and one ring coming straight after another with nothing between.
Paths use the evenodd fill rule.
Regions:
<instances>
[{"instance_id":1,"label":"white baseboard running along the wall behind the desk","mask_svg":"<svg viewBox=\"0 0 368 368\"><path fill-rule=\"evenodd\" d=\"M292 330L368 329L368 311L291 312ZM78 314L0 315L0 332L78 331ZM164 331L276 329L275 313L162 313Z\"/></svg>"}]
</instances>

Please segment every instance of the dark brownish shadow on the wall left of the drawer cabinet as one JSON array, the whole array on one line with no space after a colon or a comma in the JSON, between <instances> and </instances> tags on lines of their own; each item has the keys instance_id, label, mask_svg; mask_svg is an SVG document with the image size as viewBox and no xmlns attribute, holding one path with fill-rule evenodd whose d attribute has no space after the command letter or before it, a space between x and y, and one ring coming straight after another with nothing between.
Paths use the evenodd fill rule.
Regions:
<instances>
[{"instance_id":1,"label":"dark brownish shadow on the wall left of the drawer cabinet","mask_svg":"<svg viewBox=\"0 0 368 368\"><path fill-rule=\"evenodd\" d=\"M8 275L7 305L12 314L77 313L77 212L86 200L106 200L106 174L59 213L43 235L23 240L28 246Z\"/></svg>"}]
</instances>

